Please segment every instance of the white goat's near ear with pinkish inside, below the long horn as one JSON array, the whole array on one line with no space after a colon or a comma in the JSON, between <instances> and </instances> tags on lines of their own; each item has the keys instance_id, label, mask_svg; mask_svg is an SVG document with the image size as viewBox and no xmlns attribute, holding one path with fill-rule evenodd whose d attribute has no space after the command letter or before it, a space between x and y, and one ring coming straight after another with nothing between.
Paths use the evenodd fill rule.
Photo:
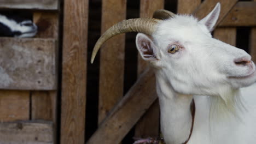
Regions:
<instances>
[{"instance_id":1,"label":"white goat's near ear with pinkish inside, below the long horn","mask_svg":"<svg viewBox=\"0 0 256 144\"><path fill-rule=\"evenodd\" d=\"M136 36L136 46L144 60L154 61L157 59L154 53L156 46L147 35L138 33Z\"/></svg>"}]
</instances>

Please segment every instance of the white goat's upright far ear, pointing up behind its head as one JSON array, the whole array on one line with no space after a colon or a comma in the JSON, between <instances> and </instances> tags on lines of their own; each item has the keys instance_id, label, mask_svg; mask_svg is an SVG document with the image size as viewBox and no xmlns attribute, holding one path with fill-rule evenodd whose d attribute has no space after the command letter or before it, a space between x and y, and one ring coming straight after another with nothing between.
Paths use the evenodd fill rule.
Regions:
<instances>
[{"instance_id":1,"label":"white goat's upright far ear, pointing up behind its head","mask_svg":"<svg viewBox=\"0 0 256 144\"><path fill-rule=\"evenodd\" d=\"M205 18L200 20L200 23L203 23L208 30L211 32L214 29L214 25L216 24L220 13L220 3L217 3L215 8L208 14Z\"/></svg>"}]
</instances>

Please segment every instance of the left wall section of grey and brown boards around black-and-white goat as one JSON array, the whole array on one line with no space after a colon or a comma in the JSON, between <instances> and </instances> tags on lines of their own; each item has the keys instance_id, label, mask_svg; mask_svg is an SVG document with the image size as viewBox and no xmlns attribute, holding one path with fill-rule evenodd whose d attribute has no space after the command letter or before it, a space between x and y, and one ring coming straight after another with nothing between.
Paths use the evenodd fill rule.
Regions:
<instances>
[{"instance_id":1,"label":"left wall section of grey and brown boards around black-and-white goat","mask_svg":"<svg viewBox=\"0 0 256 144\"><path fill-rule=\"evenodd\" d=\"M1 13L24 14L38 26L34 38L0 38L0 66L12 79L2 85L7 83L1 71L0 143L56 142L58 5L57 0L0 2Z\"/></svg>"}]
</instances>

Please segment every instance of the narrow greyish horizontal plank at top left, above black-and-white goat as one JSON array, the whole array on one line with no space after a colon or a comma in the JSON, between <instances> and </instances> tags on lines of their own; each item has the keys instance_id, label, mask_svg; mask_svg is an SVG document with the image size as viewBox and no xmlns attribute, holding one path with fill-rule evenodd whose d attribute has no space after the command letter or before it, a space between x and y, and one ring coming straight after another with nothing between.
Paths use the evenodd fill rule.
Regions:
<instances>
[{"instance_id":1,"label":"narrow greyish horizontal plank at top left, above black-and-white goat","mask_svg":"<svg viewBox=\"0 0 256 144\"><path fill-rule=\"evenodd\" d=\"M57 10L58 0L0 0L1 9Z\"/></svg>"}]
</instances>

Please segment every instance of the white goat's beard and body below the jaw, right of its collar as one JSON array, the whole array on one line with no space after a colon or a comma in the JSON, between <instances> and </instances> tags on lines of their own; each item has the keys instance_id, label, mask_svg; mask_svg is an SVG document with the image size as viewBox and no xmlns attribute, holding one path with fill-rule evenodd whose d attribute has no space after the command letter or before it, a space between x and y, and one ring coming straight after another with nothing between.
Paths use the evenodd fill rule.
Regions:
<instances>
[{"instance_id":1,"label":"white goat's beard and body below the jaw, right of its collar","mask_svg":"<svg viewBox=\"0 0 256 144\"><path fill-rule=\"evenodd\" d=\"M216 97L194 95L195 123L188 143L255 143L255 92L256 83Z\"/></svg>"}]
</instances>

